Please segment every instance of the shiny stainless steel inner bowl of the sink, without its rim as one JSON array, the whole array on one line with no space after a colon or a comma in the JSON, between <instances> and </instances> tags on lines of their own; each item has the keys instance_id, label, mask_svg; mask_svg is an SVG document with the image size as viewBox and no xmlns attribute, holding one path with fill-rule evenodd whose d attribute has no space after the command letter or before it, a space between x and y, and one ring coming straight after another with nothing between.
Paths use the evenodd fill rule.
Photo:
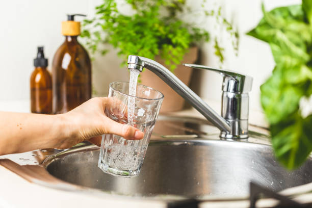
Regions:
<instances>
[{"instance_id":1,"label":"shiny stainless steel inner bowl of the sink, without its rim","mask_svg":"<svg viewBox=\"0 0 312 208\"><path fill-rule=\"evenodd\" d=\"M98 167L99 148L48 160L46 170L69 183L135 196L247 197L249 183L280 191L312 181L312 160L288 172L268 145L222 140L151 141L138 177L122 178Z\"/></svg>"}]
</instances>

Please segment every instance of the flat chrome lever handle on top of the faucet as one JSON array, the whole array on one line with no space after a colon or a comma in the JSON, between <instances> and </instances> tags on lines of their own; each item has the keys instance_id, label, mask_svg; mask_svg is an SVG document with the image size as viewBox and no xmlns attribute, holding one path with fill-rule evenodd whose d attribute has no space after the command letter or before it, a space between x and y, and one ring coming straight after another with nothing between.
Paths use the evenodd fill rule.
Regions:
<instances>
[{"instance_id":1,"label":"flat chrome lever handle on top of the faucet","mask_svg":"<svg viewBox=\"0 0 312 208\"><path fill-rule=\"evenodd\" d=\"M233 93L247 93L251 91L252 77L240 74L232 70L227 69L216 69L209 66L197 65L197 64L183 64L187 67L195 69L207 69L210 71L219 72L223 76L223 87L224 92Z\"/></svg>"}]
</instances>

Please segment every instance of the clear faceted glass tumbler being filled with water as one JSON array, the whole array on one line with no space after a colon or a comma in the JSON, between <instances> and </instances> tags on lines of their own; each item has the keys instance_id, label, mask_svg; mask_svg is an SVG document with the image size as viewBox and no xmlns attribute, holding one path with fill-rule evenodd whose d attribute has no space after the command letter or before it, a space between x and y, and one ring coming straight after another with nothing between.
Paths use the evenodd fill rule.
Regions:
<instances>
[{"instance_id":1,"label":"clear faceted glass tumbler being filled with water","mask_svg":"<svg viewBox=\"0 0 312 208\"><path fill-rule=\"evenodd\" d=\"M119 123L128 124L128 101L135 103L131 124L144 133L142 140L126 140L118 135L102 135L98 167L115 176L138 176L164 95L150 87L137 85L136 96L129 95L128 82L110 84L112 104L105 114Z\"/></svg>"}]
</instances>

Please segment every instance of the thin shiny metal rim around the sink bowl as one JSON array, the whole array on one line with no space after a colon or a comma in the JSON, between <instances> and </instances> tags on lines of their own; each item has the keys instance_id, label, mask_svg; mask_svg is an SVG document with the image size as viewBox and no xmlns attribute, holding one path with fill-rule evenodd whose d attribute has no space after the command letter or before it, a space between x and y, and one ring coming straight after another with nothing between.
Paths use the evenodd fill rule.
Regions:
<instances>
[{"instance_id":1,"label":"thin shiny metal rim around the sink bowl","mask_svg":"<svg viewBox=\"0 0 312 208\"><path fill-rule=\"evenodd\" d=\"M161 142L161 143L168 143L169 141L171 142L175 142L175 143L181 143L181 142L194 142L194 141L198 141L198 142L210 142L210 143L220 143L220 142L224 142L226 144L234 144L234 145L252 145L252 144L257 144L257 145L261 145L264 147L270 147L271 145L267 145L267 144L261 144L261 143L252 143L252 142L245 142L245 141L224 141L224 140L210 140L210 139L188 139L188 140L153 140L151 142ZM251 143L251 144L248 144ZM71 152L78 152L78 151L86 151L86 150L96 150L99 149L98 146L91 144L89 142L83 142L80 145L76 145L72 148L69 149L65 149L65 150L56 150L56 149L42 149L43 151L45 151L44 153L46 153L47 157L44 158L44 160L42 160L39 164L35 165L35 166L39 166L41 167L41 172L45 173L49 176L51 176L51 178L53 178L53 180L40 180L40 178L37 177L37 175L30 175L29 178L25 178L28 179L29 181L32 181L35 184L39 184L48 188L53 188L53 189L57 189L57 190L65 190L65 191L73 191L76 193L82 193L82 194L92 194L95 196L99 196L99 197L103 197L103 196L107 196L107 197L113 197L116 199L128 199L128 200L149 200L149 201L164 201L164 202L170 202L170 201L176 201L176 200L181 200L181 199L189 199L187 197L182 197L182 196L178 196L178 195L172 195L172 194L168 194L166 195L166 197L164 198L163 195L155 195L155 196L146 196L146 197L142 197L142 196L127 196L127 195L118 195L118 194L114 194L114 193L110 193L108 191L103 191L103 190L99 190L99 189L95 189L95 188L88 188L88 187L84 187L84 186L79 186L79 185L75 185L75 184L70 184L64 180L58 179L57 177L51 175L48 173L48 171L45 169L46 166L53 162L53 160L56 157L61 157L62 155L66 155L66 154L70 154ZM33 152L30 152L33 153ZM309 155L309 157L312 157L312 154ZM12 164L14 164L15 166L19 166L19 167L25 167L25 166L34 166L34 165L25 165L25 166L20 166L16 163L14 163L11 160L5 159L7 161L9 161ZM9 170L19 174L20 176L23 177L23 174L29 174L29 170L12 170L12 168L10 168L10 165L7 165L6 163L3 163L4 160L0 159L0 165L3 165L5 167L7 167ZM22 174L20 174L22 173ZM301 190L299 190L301 189ZM300 185L300 186L296 186L296 187L292 187L292 188L288 188L288 189L284 189L278 193L282 193L283 195L286 196L300 196L302 194L308 193L309 191L312 190L312 183L308 183L308 184L304 184L304 185ZM224 202L224 201L233 201L233 202L238 202L238 201L244 201L244 202L248 202L248 197L210 197L207 196L205 198L199 198L198 199L200 202ZM267 200L267 199L262 199L262 200Z\"/></svg>"}]
</instances>

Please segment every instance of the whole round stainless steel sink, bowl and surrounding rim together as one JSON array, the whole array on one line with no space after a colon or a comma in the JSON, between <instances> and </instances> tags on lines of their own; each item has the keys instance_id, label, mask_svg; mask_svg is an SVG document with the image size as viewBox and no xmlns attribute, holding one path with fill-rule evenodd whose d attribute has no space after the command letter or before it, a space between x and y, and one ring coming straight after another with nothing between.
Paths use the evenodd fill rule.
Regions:
<instances>
[{"instance_id":1,"label":"whole round stainless steel sink, bowl and surrounding rim together","mask_svg":"<svg viewBox=\"0 0 312 208\"><path fill-rule=\"evenodd\" d=\"M220 140L219 133L206 120L160 116L135 178L103 173L97 167L99 148L87 142L6 155L0 165L51 188L161 200L238 201L249 196L250 181L274 191L312 182L312 158L288 172L276 162L265 129L250 126L244 142Z\"/></svg>"}]
</instances>

